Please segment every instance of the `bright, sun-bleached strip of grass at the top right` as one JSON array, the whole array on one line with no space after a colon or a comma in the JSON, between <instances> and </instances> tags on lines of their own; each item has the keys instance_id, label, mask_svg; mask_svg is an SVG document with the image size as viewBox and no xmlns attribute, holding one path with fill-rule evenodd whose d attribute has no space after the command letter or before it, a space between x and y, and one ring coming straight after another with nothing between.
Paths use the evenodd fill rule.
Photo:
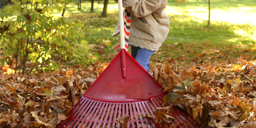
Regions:
<instances>
[{"instance_id":1,"label":"bright, sun-bleached strip of grass at the top right","mask_svg":"<svg viewBox=\"0 0 256 128\"><path fill-rule=\"evenodd\" d=\"M208 0L186 0L179 6L174 6L175 1L169 1L168 5L166 12L169 15L185 14L208 20ZM256 0L211 0L210 18L211 21L256 25Z\"/></svg>"}]
</instances>

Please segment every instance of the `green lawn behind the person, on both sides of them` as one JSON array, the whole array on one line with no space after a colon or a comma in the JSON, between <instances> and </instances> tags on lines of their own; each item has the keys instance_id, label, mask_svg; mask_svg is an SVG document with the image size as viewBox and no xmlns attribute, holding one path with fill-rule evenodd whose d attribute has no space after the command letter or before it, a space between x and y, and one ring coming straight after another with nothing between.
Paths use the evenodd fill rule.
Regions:
<instances>
[{"instance_id":1,"label":"green lawn behind the person, on both sides of them","mask_svg":"<svg viewBox=\"0 0 256 128\"><path fill-rule=\"evenodd\" d=\"M256 56L256 1L211 0L211 26L207 28L208 1L186 0L176 6L169 0L166 12L170 20L170 32L163 46L151 58L152 63L182 61L184 64L197 61L224 61L232 58ZM69 5L67 17L79 18L87 24L84 38L89 44L105 47L104 52L92 48L99 61L110 62L115 56L111 47L118 43L111 35L118 21L118 5L113 0L108 4L108 17L100 17L103 2L82 3L82 10ZM254 15L254 16L253 16Z\"/></svg>"}]
</instances>

